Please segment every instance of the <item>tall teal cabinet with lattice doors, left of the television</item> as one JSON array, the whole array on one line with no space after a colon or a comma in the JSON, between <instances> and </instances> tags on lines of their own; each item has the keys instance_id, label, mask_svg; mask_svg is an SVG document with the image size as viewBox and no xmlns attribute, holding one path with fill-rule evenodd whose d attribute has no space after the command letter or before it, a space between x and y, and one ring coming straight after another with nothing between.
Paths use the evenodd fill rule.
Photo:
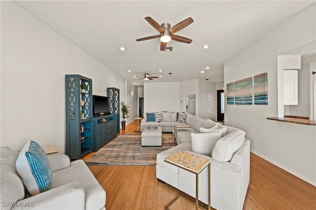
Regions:
<instances>
[{"instance_id":1,"label":"tall teal cabinet with lattice doors, left of the television","mask_svg":"<svg viewBox=\"0 0 316 210\"><path fill-rule=\"evenodd\" d=\"M87 89L81 93L80 85ZM78 75L65 75L66 89L66 151L70 159L80 159L91 152L92 147L92 79ZM84 102L84 105L80 103ZM84 118L81 118L80 112ZM81 132L81 126L85 130ZM84 140L80 137L84 136Z\"/></svg>"}]
</instances>

